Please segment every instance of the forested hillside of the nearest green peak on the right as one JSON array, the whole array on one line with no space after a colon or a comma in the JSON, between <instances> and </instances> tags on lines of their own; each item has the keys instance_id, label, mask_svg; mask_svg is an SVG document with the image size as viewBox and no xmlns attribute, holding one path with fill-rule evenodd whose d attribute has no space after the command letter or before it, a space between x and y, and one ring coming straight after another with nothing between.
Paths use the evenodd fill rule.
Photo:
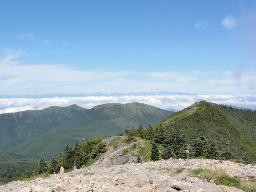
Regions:
<instances>
[{"instance_id":1,"label":"forested hillside of the nearest green peak on the right","mask_svg":"<svg viewBox=\"0 0 256 192\"><path fill-rule=\"evenodd\" d=\"M212 145L237 158L250 157L253 162L256 158L256 111L250 109L200 101L167 117L155 129L159 135L156 142L165 147L172 144L169 138L179 130L184 144L199 143L200 155L205 156Z\"/></svg>"}]
</instances>

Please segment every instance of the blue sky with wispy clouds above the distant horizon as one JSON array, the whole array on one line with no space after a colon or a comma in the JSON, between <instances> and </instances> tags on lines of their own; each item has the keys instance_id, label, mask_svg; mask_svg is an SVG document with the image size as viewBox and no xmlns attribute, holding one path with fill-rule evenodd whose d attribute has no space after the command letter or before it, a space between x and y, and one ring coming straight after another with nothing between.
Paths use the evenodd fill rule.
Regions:
<instances>
[{"instance_id":1,"label":"blue sky with wispy clouds above the distant horizon","mask_svg":"<svg viewBox=\"0 0 256 192\"><path fill-rule=\"evenodd\" d=\"M0 95L256 93L256 1L1 1Z\"/></svg>"}]
</instances>

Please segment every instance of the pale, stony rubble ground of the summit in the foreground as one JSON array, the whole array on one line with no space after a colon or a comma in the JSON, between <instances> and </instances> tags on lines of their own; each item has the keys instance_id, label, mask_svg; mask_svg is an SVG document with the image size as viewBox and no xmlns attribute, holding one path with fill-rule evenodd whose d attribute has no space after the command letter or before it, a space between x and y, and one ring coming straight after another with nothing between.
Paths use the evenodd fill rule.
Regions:
<instances>
[{"instance_id":1,"label":"pale, stony rubble ground of the summit in the foreground","mask_svg":"<svg viewBox=\"0 0 256 192\"><path fill-rule=\"evenodd\" d=\"M173 173L185 168L180 174ZM172 159L122 165L95 164L65 173L37 178L33 181L13 181L0 186L1 192L243 192L241 189L216 185L193 176L196 168L224 169L230 176L256 176L249 165L210 159Z\"/></svg>"}]
</instances>

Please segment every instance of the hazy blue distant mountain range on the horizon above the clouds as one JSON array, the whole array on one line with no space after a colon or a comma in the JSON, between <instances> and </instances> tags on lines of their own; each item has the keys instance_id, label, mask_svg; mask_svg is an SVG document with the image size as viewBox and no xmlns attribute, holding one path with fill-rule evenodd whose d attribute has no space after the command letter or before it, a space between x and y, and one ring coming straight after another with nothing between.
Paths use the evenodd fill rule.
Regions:
<instances>
[{"instance_id":1,"label":"hazy blue distant mountain range on the horizon above the clouds","mask_svg":"<svg viewBox=\"0 0 256 192\"><path fill-rule=\"evenodd\" d=\"M54 97L88 97L88 96L96 96L96 97L101 97L101 96L130 96L130 95L197 95L197 94L191 94L191 93L181 93L181 92L167 92L167 91L160 91L160 92L138 92L138 93L101 93L101 92L96 92L96 93L76 93L76 94L71 94L71 93L53 93L53 94L47 94L44 93L42 95L0 95L0 99L3 98L31 98L31 99L42 99L42 98L54 98Z\"/></svg>"}]
</instances>

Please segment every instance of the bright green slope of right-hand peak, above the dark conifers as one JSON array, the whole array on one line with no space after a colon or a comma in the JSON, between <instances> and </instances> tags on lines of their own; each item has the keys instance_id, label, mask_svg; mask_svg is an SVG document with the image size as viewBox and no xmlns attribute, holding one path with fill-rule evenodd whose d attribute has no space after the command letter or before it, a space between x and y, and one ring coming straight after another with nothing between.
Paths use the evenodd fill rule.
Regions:
<instances>
[{"instance_id":1,"label":"bright green slope of right-hand peak, above the dark conifers","mask_svg":"<svg viewBox=\"0 0 256 192\"><path fill-rule=\"evenodd\" d=\"M177 124L189 141L199 135L206 136L222 144L229 143L240 157L250 152L251 160L255 161L256 111L200 101L162 121L162 126L167 129L173 129Z\"/></svg>"}]
</instances>

